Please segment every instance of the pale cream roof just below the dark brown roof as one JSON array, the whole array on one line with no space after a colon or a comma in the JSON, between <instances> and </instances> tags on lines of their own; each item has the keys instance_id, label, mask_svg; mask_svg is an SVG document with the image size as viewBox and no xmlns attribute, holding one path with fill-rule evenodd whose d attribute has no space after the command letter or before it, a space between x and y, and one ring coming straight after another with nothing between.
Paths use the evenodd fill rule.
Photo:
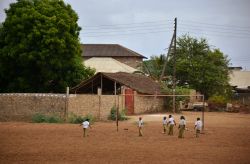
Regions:
<instances>
[{"instance_id":1,"label":"pale cream roof just below the dark brown roof","mask_svg":"<svg viewBox=\"0 0 250 164\"><path fill-rule=\"evenodd\" d=\"M127 72L133 73L139 71L135 68L132 68L126 64L123 64L113 58L109 57L92 57L84 61L84 65L94 68L96 73L98 72Z\"/></svg>"}]
</instances>

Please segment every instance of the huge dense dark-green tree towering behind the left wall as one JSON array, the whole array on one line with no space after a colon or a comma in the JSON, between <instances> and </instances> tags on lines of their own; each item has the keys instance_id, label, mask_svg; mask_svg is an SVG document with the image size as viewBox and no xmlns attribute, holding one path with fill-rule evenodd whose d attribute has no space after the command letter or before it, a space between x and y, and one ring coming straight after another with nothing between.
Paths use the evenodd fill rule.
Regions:
<instances>
[{"instance_id":1,"label":"huge dense dark-green tree towering behind the left wall","mask_svg":"<svg viewBox=\"0 0 250 164\"><path fill-rule=\"evenodd\" d=\"M18 0L0 28L0 92L65 92L82 65L78 16L62 0Z\"/></svg>"}]
</instances>

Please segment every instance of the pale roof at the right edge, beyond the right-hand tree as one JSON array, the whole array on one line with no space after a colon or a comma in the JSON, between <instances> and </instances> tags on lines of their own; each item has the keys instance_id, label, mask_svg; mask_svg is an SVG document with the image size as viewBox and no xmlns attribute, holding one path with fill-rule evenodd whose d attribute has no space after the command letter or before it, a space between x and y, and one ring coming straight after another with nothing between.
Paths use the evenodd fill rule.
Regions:
<instances>
[{"instance_id":1,"label":"pale roof at the right edge, beyond the right-hand tree","mask_svg":"<svg viewBox=\"0 0 250 164\"><path fill-rule=\"evenodd\" d=\"M250 71L233 70L229 76L231 86L237 86L237 88L242 89L250 86Z\"/></svg>"}]
</instances>

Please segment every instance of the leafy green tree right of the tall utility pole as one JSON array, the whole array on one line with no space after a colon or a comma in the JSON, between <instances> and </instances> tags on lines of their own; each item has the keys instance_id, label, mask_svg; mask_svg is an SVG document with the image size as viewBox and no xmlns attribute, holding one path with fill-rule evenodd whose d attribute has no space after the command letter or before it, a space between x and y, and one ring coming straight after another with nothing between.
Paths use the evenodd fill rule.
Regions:
<instances>
[{"instance_id":1,"label":"leafy green tree right of the tall utility pole","mask_svg":"<svg viewBox=\"0 0 250 164\"><path fill-rule=\"evenodd\" d=\"M229 60L219 49L211 49L207 40L184 35L177 39L177 85L189 85L205 95L225 95L229 89ZM167 65L172 74L173 55Z\"/></svg>"}]
</instances>

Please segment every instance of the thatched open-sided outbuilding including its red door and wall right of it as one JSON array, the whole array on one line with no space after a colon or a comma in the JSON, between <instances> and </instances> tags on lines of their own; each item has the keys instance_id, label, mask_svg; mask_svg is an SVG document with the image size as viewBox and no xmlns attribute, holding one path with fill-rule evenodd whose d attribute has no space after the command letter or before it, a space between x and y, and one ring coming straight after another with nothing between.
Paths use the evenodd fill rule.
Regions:
<instances>
[{"instance_id":1,"label":"thatched open-sided outbuilding including its red door and wall right of it","mask_svg":"<svg viewBox=\"0 0 250 164\"><path fill-rule=\"evenodd\" d=\"M157 97L161 94L160 84L142 74L99 72L73 87L70 92L75 95L99 96L103 99L112 96L113 100L105 103L103 101L101 104L107 105L115 101L115 104L118 103L119 108L126 109L128 114L164 109L164 98Z\"/></svg>"}]
</instances>

